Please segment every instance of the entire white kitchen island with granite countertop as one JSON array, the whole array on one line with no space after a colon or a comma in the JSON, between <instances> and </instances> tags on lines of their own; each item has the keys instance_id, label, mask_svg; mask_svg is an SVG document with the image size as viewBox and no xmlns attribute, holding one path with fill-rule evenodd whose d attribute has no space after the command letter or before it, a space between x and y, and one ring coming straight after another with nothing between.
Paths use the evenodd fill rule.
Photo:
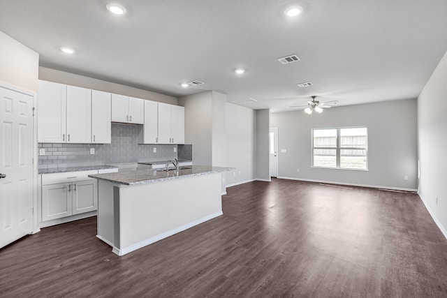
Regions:
<instances>
[{"instance_id":1,"label":"entire white kitchen island with granite countertop","mask_svg":"<svg viewBox=\"0 0 447 298\"><path fill-rule=\"evenodd\" d=\"M229 167L92 174L98 179L99 239L124 255L221 216L221 173Z\"/></svg>"}]
</instances>

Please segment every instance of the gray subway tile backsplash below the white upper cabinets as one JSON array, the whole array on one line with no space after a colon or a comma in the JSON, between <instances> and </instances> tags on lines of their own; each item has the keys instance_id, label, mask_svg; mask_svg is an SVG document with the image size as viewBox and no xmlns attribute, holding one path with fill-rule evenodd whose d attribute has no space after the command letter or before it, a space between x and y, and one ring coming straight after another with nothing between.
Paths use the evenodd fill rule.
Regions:
<instances>
[{"instance_id":1,"label":"gray subway tile backsplash below the white upper cabinets","mask_svg":"<svg viewBox=\"0 0 447 298\"><path fill-rule=\"evenodd\" d=\"M91 148L94 154L90 154ZM138 144L138 126L129 124L112 124L111 144L39 143L38 149L45 149L45 156L39 156L39 169L174 158L192 160L191 144Z\"/></svg>"}]
</instances>

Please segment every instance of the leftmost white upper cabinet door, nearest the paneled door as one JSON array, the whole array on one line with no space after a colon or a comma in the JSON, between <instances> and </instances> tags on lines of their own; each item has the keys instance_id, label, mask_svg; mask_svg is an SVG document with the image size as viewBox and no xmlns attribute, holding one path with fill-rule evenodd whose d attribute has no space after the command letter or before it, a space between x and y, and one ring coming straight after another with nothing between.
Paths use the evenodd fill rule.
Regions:
<instances>
[{"instance_id":1,"label":"leftmost white upper cabinet door, nearest the paneled door","mask_svg":"<svg viewBox=\"0 0 447 298\"><path fill-rule=\"evenodd\" d=\"M39 81L37 123L38 142L65 142L66 85Z\"/></svg>"}]
</instances>

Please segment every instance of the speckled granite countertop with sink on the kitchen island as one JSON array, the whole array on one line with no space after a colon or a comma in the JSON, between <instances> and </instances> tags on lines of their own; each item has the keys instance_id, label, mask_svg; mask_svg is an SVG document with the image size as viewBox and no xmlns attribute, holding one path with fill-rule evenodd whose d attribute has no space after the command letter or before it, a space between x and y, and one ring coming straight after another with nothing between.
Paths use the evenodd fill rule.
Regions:
<instances>
[{"instance_id":1,"label":"speckled granite countertop with sink on the kitchen island","mask_svg":"<svg viewBox=\"0 0 447 298\"><path fill-rule=\"evenodd\" d=\"M131 172L115 172L108 174L92 174L91 178L102 179L116 184L137 185L148 184L156 181L169 179L180 179L182 177L193 177L203 174L227 172L235 170L233 167L212 167L210 165L188 165L180 167L179 171L156 171L156 170L136 170Z\"/></svg>"}]
</instances>

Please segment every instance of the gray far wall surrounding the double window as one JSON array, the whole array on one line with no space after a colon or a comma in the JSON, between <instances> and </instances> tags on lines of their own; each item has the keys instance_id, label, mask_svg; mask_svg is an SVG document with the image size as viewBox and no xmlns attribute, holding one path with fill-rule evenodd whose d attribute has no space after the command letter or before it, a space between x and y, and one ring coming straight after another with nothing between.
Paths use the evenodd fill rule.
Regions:
<instances>
[{"instance_id":1,"label":"gray far wall surrounding the double window","mask_svg":"<svg viewBox=\"0 0 447 298\"><path fill-rule=\"evenodd\" d=\"M278 128L279 177L416 190L416 100L332 107L322 114L302 110L271 115ZM312 128L366 126L368 171L318 169L312 165ZM286 153L281 153L286 149ZM298 172L299 169L299 172ZM404 180L408 176L408 180Z\"/></svg>"}]
</instances>

